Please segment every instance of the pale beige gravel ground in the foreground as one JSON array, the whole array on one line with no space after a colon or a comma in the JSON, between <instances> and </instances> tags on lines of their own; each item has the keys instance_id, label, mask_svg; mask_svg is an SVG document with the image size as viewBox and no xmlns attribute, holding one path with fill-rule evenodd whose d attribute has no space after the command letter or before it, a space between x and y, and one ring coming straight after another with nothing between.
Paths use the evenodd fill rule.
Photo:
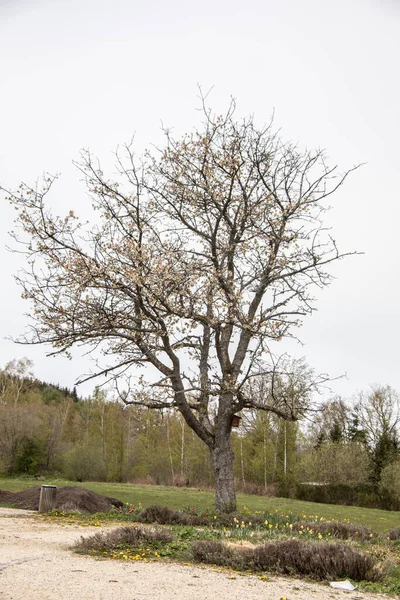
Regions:
<instances>
[{"instance_id":1,"label":"pale beige gravel ground in the foreground","mask_svg":"<svg viewBox=\"0 0 400 600\"><path fill-rule=\"evenodd\" d=\"M60 525L0 507L0 600L377 600L296 579L168 563L79 556L69 546L99 527ZM393 598L393 596L392 596Z\"/></svg>"}]
</instances>

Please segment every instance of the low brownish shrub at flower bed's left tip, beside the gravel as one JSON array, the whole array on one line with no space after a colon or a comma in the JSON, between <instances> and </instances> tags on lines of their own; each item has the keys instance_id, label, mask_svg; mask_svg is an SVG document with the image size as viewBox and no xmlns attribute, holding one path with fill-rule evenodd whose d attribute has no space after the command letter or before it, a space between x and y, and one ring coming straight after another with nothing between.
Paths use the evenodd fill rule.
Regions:
<instances>
[{"instance_id":1,"label":"low brownish shrub at flower bed's left tip, beside the gravel","mask_svg":"<svg viewBox=\"0 0 400 600\"><path fill-rule=\"evenodd\" d=\"M113 550L121 545L140 546L147 542L168 543L173 540L169 531L145 527L118 527L107 532L98 532L87 538L81 537L73 546L75 550Z\"/></svg>"}]
</instances>

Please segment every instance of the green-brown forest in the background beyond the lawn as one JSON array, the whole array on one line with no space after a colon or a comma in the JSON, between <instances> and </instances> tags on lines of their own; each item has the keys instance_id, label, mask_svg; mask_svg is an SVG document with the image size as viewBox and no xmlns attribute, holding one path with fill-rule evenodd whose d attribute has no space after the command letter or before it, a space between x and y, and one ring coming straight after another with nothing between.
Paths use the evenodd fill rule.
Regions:
<instances>
[{"instance_id":1,"label":"green-brown forest in the background beyond the lawn","mask_svg":"<svg viewBox=\"0 0 400 600\"><path fill-rule=\"evenodd\" d=\"M126 406L95 388L37 380L27 359L0 370L0 472L76 481L212 487L205 444L173 410ZM400 400L375 386L335 397L309 420L242 411L234 429L239 490L400 509Z\"/></svg>"}]
</instances>

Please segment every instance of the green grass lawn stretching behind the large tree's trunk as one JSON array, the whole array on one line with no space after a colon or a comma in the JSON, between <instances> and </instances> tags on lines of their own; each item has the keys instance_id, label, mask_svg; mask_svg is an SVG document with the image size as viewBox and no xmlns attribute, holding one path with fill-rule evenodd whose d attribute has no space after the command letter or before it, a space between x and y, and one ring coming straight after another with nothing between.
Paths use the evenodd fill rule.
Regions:
<instances>
[{"instance_id":1,"label":"green grass lawn stretching behind the large tree's trunk","mask_svg":"<svg viewBox=\"0 0 400 600\"><path fill-rule=\"evenodd\" d=\"M176 488L155 485L137 485L127 483L104 483L88 481L77 483L60 479L37 481L27 478L0 478L0 489L17 492L29 487L42 484L79 485L98 494L112 496L123 502L143 506L160 504L178 510L188 506L196 510L213 510L214 494L211 491L194 488ZM296 515L310 515L324 517L328 520L349 520L352 523L362 524L378 533L383 533L400 525L400 512L385 511L375 508L359 508L356 506L339 506L333 504L317 504L302 500L287 498L270 498L264 496L251 496L248 494L237 495L238 513L256 511L292 512Z\"/></svg>"}]
</instances>

